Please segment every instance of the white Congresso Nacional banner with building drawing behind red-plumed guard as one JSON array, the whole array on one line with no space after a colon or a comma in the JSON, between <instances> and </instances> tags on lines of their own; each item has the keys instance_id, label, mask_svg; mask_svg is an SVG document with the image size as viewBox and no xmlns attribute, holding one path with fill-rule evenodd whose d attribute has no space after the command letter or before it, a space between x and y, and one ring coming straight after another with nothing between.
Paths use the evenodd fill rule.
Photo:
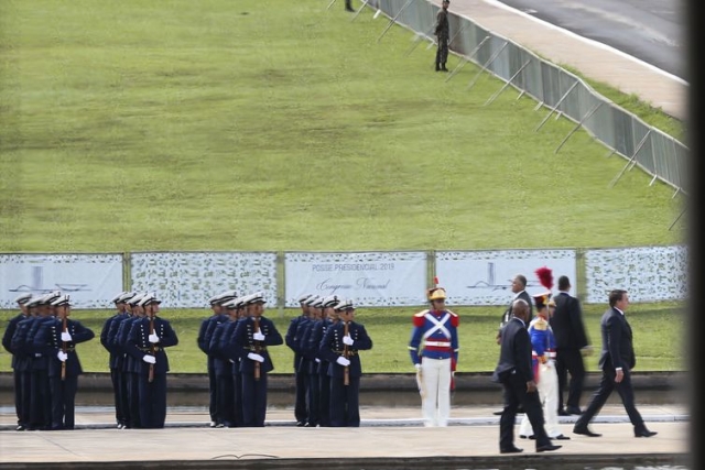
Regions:
<instances>
[{"instance_id":1,"label":"white Congresso Nacional banner with building drawing behind red-plumed guard","mask_svg":"<svg viewBox=\"0 0 705 470\"><path fill-rule=\"evenodd\" d=\"M446 289L448 305L508 305L514 295L511 281L517 274L527 277L530 295L545 292L535 274L543 266L553 271L554 293L561 275L568 276L576 288L574 250L436 252L436 276Z\"/></svg>"}]
</instances>

